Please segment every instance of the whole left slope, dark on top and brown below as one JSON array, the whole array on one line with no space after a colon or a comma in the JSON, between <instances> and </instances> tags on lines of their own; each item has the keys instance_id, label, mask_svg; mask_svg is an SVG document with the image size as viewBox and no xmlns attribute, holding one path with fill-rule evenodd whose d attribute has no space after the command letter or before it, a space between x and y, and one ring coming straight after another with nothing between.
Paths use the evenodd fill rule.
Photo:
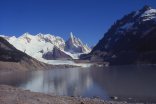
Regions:
<instances>
[{"instance_id":1,"label":"whole left slope, dark on top and brown below","mask_svg":"<svg viewBox=\"0 0 156 104\"><path fill-rule=\"evenodd\" d=\"M0 37L0 70L40 70L50 65L37 61L17 50L4 38Z\"/></svg>"}]
</instances>

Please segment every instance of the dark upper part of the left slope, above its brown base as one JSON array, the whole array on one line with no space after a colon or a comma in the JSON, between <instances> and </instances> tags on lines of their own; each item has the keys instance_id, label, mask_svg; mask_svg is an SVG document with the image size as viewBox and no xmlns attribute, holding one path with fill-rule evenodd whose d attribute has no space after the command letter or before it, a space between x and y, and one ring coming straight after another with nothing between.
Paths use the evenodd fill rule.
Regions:
<instances>
[{"instance_id":1,"label":"dark upper part of the left slope, above its brown base","mask_svg":"<svg viewBox=\"0 0 156 104\"><path fill-rule=\"evenodd\" d=\"M19 62L24 58L30 58L30 56L17 50L9 42L0 37L0 61Z\"/></svg>"}]
</instances>

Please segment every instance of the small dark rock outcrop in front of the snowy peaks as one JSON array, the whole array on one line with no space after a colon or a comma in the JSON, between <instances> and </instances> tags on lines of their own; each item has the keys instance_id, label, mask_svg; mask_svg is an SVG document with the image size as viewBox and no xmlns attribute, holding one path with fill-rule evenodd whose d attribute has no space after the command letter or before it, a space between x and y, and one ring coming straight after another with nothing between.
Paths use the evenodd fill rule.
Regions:
<instances>
[{"instance_id":1,"label":"small dark rock outcrop in front of the snowy peaks","mask_svg":"<svg viewBox=\"0 0 156 104\"><path fill-rule=\"evenodd\" d=\"M52 52L47 52L42 56L44 59L47 60L56 60L56 59L72 59L69 55L62 52L59 48L54 47Z\"/></svg>"}]
</instances>

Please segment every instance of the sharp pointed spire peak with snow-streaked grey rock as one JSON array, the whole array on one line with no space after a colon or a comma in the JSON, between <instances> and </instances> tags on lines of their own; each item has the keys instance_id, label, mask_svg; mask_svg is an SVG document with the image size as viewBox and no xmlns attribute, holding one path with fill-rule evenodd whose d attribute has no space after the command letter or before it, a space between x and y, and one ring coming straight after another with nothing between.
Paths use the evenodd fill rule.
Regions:
<instances>
[{"instance_id":1,"label":"sharp pointed spire peak with snow-streaked grey rock","mask_svg":"<svg viewBox=\"0 0 156 104\"><path fill-rule=\"evenodd\" d=\"M91 49L82 41L70 33L70 38L66 41L65 50L70 53L89 53Z\"/></svg>"}]
</instances>

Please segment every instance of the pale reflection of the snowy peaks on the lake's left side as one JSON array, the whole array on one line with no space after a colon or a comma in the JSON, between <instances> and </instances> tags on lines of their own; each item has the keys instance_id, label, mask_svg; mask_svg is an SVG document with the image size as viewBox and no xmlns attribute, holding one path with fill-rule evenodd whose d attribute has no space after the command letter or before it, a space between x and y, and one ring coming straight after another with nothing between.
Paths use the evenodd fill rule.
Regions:
<instances>
[{"instance_id":1,"label":"pale reflection of the snowy peaks on the lake's left side","mask_svg":"<svg viewBox=\"0 0 156 104\"><path fill-rule=\"evenodd\" d=\"M89 69L56 69L19 74L1 73L0 78L1 84L13 85L34 92L108 98L105 89L93 82Z\"/></svg>"}]
</instances>

